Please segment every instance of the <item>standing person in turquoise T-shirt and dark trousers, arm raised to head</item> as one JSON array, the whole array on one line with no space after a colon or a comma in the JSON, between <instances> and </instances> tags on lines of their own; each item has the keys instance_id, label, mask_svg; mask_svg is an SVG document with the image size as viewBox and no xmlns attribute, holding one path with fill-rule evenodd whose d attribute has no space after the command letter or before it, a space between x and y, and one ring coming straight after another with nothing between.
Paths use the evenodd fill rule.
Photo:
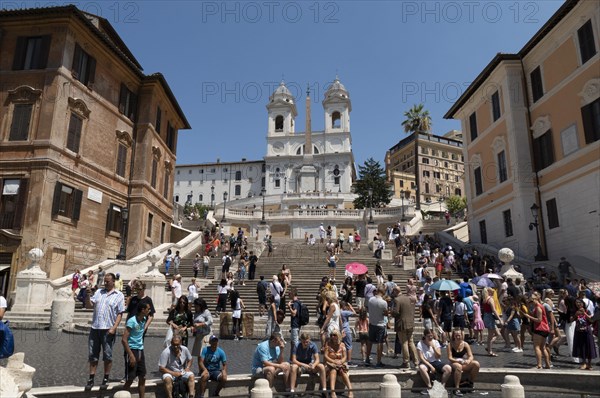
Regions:
<instances>
[{"instance_id":1,"label":"standing person in turquoise T-shirt and dark trousers, arm raised to head","mask_svg":"<svg viewBox=\"0 0 600 398\"><path fill-rule=\"evenodd\" d=\"M146 320L150 314L150 304L140 301L136 312L137 315L129 318L125 333L121 342L125 350L125 386L128 390L131 384L138 378L138 392L140 398L144 398L146 391L146 359L144 357L144 330Z\"/></svg>"}]
</instances>

